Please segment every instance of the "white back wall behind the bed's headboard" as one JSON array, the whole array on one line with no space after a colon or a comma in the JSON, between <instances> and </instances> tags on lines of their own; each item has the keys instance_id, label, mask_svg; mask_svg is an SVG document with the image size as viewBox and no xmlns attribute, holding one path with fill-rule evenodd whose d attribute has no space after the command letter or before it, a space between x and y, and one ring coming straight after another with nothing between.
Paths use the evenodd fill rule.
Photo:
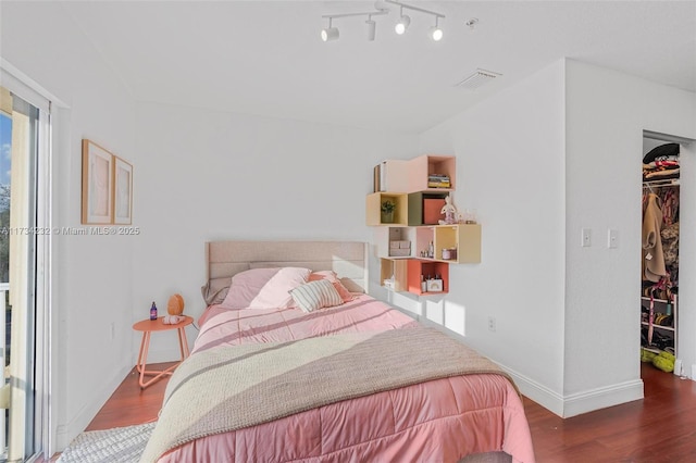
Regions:
<instances>
[{"instance_id":1,"label":"white back wall behind the bed's headboard","mask_svg":"<svg viewBox=\"0 0 696 463\"><path fill-rule=\"evenodd\" d=\"M135 167L132 318L179 292L198 317L203 245L224 239L369 241L365 196L383 159L418 154L418 137L140 103ZM372 262L371 279L378 268ZM192 340L196 330L188 329ZM151 358L174 360L175 336L153 336ZM134 335L134 353L139 337ZM135 361L135 356L133 358Z\"/></svg>"}]
</instances>

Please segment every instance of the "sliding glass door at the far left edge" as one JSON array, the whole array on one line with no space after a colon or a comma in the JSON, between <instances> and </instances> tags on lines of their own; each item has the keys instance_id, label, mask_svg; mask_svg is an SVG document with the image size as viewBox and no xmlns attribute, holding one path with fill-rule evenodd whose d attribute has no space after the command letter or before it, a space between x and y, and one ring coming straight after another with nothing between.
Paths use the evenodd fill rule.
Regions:
<instances>
[{"instance_id":1,"label":"sliding glass door at the far left edge","mask_svg":"<svg viewBox=\"0 0 696 463\"><path fill-rule=\"evenodd\" d=\"M22 462L38 450L37 162L39 110L0 89L0 451ZM38 409L40 410L40 408Z\"/></svg>"}]
</instances>

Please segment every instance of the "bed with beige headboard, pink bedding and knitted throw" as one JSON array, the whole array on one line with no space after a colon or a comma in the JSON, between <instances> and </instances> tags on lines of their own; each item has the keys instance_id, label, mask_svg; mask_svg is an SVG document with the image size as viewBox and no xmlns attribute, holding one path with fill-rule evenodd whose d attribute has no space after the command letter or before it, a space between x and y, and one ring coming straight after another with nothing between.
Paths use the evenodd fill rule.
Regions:
<instances>
[{"instance_id":1,"label":"bed with beige headboard, pink bedding and knitted throw","mask_svg":"<svg viewBox=\"0 0 696 463\"><path fill-rule=\"evenodd\" d=\"M207 309L142 462L534 462L489 360L366 293L353 241L206 243Z\"/></svg>"}]
</instances>

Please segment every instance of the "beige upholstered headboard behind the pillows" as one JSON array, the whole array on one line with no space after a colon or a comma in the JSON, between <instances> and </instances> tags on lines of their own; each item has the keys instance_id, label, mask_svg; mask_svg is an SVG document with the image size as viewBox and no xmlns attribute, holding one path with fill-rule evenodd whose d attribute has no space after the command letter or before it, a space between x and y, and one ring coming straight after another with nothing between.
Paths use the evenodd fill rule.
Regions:
<instances>
[{"instance_id":1,"label":"beige upholstered headboard behind the pillows","mask_svg":"<svg viewBox=\"0 0 696 463\"><path fill-rule=\"evenodd\" d=\"M348 290L366 292L368 246L360 241L210 241L206 242L203 298L229 286L249 268L297 266L333 270ZM225 291L226 292L226 291ZM208 296L207 296L208 295Z\"/></svg>"}]
</instances>

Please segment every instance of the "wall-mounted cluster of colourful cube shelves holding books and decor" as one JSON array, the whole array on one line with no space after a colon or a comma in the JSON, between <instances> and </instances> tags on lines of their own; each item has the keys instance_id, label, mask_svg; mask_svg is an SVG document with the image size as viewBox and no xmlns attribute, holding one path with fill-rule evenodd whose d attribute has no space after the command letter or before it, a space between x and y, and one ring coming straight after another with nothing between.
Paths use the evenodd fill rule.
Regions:
<instances>
[{"instance_id":1,"label":"wall-mounted cluster of colourful cube shelves holding books and decor","mask_svg":"<svg viewBox=\"0 0 696 463\"><path fill-rule=\"evenodd\" d=\"M395 291L418 296L449 290L449 264L481 262L481 225L440 225L445 198L455 190L456 158L425 154L412 160L384 161L374 170L375 192L365 201L365 222L374 229L381 283ZM381 191L395 187L397 191ZM394 222L382 216L385 200L396 203ZM421 278L439 276L423 290Z\"/></svg>"}]
</instances>

